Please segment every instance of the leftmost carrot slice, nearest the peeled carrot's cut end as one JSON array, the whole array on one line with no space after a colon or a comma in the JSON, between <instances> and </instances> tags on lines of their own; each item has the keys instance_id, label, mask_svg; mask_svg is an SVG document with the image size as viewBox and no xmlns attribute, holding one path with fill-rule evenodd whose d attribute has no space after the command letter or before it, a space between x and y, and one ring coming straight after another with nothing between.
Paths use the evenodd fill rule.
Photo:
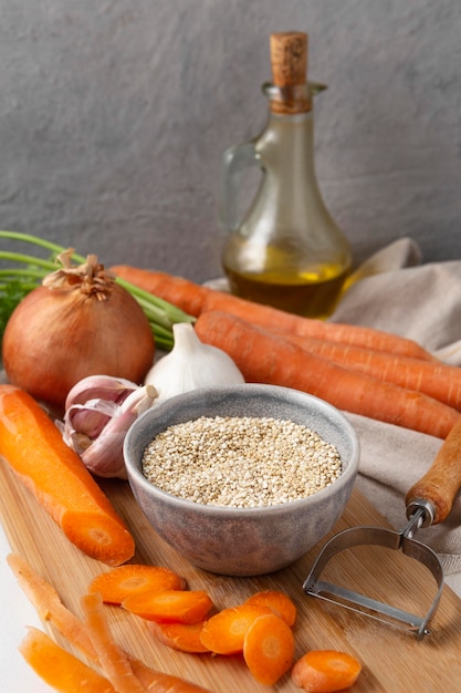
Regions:
<instances>
[{"instance_id":1,"label":"leftmost carrot slice, nearest the peeled carrot's cut end","mask_svg":"<svg viewBox=\"0 0 461 693\"><path fill-rule=\"evenodd\" d=\"M186 580L169 568L126 563L93 578L88 592L99 592L105 603L121 604L132 594L185 587Z\"/></svg>"}]
</instances>

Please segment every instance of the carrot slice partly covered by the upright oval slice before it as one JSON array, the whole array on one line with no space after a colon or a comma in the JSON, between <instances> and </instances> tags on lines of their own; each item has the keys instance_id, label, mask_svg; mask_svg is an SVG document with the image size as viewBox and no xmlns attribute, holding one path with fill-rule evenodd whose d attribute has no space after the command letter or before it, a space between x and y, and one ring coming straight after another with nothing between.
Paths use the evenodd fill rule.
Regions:
<instances>
[{"instance_id":1,"label":"carrot slice partly covered by the upright oval slice before it","mask_svg":"<svg viewBox=\"0 0 461 693\"><path fill-rule=\"evenodd\" d=\"M200 640L206 648L217 654L242 652L248 629L253 621L264 614L273 614L273 611L263 604L243 602L238 607L222 609L206 621Z\"/></svg>"}]
</instances>

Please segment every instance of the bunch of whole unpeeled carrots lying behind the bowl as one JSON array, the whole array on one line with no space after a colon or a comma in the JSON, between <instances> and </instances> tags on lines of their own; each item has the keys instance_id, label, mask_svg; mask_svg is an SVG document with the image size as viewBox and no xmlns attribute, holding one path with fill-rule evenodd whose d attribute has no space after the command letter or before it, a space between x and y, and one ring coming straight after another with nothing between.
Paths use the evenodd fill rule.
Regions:
<instances>
[{"instance_id":1,"label":"bunch of whole unpeeled carrots lying behind the bowl","mask_svg":"<svg viewBox=\"0 0 461 693\"><path fill-rule=\"evenodd\" d=\"M294 387L440 438L461 416L461 369L412 340L294 316L165 272L112 270L195 317L199 338L226 351L247 382Z\"/></svg>"}]
</instances>

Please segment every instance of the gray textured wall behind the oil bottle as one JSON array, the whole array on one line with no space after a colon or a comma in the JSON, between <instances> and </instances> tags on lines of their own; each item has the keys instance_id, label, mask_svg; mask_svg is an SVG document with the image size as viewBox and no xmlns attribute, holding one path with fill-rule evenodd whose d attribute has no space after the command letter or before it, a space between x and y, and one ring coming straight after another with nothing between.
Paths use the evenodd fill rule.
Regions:
<instances>
[{"instance_id":1,"label":"gray textured wall behind the oil bottle","mask_svg":"<svg viewBox=\"0 0 461 693\"><path fill-rule=\"evenodd\" d=\"M321 187L357 260L461 258L459 0L2 0L0 226L221 272L226 147L259 133L269 34L310 34Z\"/></svg>"}]
</instances>

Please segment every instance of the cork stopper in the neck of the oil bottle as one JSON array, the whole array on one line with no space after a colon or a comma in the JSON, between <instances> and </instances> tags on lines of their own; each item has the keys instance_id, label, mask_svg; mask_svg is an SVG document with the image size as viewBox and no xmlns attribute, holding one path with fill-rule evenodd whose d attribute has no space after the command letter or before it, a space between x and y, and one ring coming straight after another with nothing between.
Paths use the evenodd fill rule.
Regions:
<instances>
[{"instance_id":1,"label":"cork stopper in the neck of the oil bottle","mask_svg":"<svg viewBox=\"0 0 461 693\"><path fill-rule=\"evenodd\" d=\"M304 113L311 110L307 89L307 34L286 31L271 34L271 68L275 113Z\"/></svg>"}]
</instances>

